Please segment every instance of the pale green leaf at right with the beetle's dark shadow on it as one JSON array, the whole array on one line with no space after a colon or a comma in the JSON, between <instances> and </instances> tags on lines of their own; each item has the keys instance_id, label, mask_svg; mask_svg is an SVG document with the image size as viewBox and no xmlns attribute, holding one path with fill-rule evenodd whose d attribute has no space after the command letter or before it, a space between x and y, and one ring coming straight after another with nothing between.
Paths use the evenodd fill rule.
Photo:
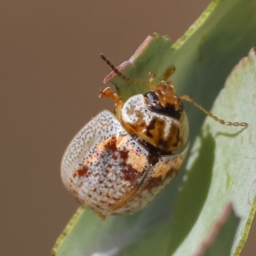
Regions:
<instances>
[{"instance_id":1,"label":"pale green leaf at right with the beetle's dark shadow on it","mask_svg":"<svg viewBox=\"0 0 256 256\"><path fill-rule=\"evenodd\" d=\"M190 255L229 201L241 218L232 254L241 251L240 242L245 241L247 224L255 212L256 120L250 114L255 109L255 70L252 49L232 71L212 108L217 116L249 125L237 129L207 118L195 140L172 222L174 255Z\"/></svg>"}]
</instances>

